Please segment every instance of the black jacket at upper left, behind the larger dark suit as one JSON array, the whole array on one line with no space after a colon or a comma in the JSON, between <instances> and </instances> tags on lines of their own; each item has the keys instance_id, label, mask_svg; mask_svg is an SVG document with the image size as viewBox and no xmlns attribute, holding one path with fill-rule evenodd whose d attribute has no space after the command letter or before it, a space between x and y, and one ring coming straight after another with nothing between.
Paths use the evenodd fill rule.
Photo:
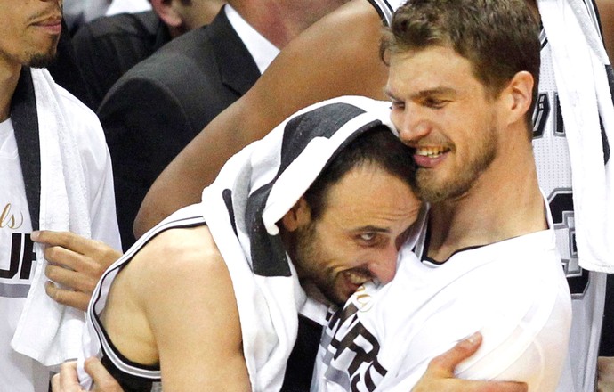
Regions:
<instances>
[{"instance_id":1,"label":"black jacket at upper left, behind the larger dark suit","mask_svg":"<svg viewBox=\"0 0 614 392\"><path fill-rule=\"evenodd\" d=\"M125 71L170 40L166 24L153 11L104 16L81 26L72 45L91 96L88 106L97 110Z\"/></svg>"}]
</instances>

